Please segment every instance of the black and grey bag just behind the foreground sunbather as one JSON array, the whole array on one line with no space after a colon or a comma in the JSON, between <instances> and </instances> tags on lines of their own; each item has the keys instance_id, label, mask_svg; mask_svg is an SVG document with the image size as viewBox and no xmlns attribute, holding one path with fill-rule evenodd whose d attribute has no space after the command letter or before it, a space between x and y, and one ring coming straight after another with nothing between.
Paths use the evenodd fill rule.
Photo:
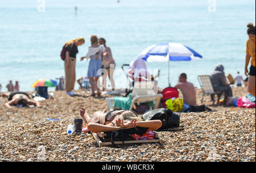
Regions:
<instances>
[{"instance_id":1,"label":"black and grey bag just behind the foreground sunbather","mask_svg":"<svg viewBox=\"0 0 256 173\"><path fill-rule=\"evenodd\" d=\"M171 109L160 108L154 109L142 115L142 119L147 120L161 120L162 126L158 130L168 129L180 126L180 116L172 112Z\"/></svg>"}]
</instances>

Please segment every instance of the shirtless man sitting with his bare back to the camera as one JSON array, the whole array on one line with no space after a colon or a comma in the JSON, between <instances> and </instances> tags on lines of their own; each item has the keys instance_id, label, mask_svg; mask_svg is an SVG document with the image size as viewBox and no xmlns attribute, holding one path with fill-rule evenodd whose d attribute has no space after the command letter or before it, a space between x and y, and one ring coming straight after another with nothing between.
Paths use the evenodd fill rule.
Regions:
<instances>
[{"instance_id":1,"label":"shirtless man sitting with his bare back to the camera","mask_svg":"<svg viewBox=\"0 0 256 173\"><path fill-rule=\"evenodd\" d=\"M196 90L193 83L187 81L187 74L180 74L179 83L175 88L182 92L184 110L189 108L189 105L196 106Z\"/></svg>"}]
</instances>

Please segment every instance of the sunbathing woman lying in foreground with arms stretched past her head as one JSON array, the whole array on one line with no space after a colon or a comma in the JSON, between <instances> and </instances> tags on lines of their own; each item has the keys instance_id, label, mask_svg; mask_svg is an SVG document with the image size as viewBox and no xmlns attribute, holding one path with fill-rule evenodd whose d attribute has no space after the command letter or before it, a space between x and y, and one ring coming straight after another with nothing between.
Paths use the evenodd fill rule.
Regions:
<instances>
[{"instance_id":1,"label":"sunbathing woman lying in foreground with arms stretched past her head","mask_svg":"<svg viewBox=\"0 0 256 173\"><path fill-rule=\"evenodd\" d=\"M134 128L140 126L143 128L150 128L157 130L162 126L160 120L142 121L141 117L134 111L97 111L92 116L86 111L85 108L80 109L80 115L85 121L85 132L111 132L121 128Z\"/></svg>"}]
</instances>

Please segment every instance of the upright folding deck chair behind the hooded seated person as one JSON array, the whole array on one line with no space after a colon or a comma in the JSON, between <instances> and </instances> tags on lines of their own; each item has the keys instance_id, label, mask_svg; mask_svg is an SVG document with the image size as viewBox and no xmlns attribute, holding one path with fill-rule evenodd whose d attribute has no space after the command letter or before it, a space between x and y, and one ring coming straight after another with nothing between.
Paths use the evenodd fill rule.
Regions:
<instances>
[{"instance_id":1,"label":"upright folding deck chair behind the hooded seated person","mask_svg":"<svg viewBox=\"0 0 256 173\"><path fill-rule=\"evenodd\" d=\"M203 104L204 95L210 95L210 98L214 104L215 95L218 96L217 102L219 102L222 92L221 91L214 91L212 80L210 79L209 75L199 75L198 77L200 86L203 90L203 95L201 99L201 103Z\"/></svg>"}]
</instances>

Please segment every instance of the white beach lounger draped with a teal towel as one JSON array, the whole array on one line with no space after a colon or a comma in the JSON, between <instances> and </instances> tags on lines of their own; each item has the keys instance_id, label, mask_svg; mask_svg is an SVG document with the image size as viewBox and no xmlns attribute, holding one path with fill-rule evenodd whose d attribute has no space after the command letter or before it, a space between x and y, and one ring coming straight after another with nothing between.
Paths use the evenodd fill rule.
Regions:
<instances>
[{"instance_id":1,"label":"white beach lounger draped with a teal towel","mask_svg":"<svg viewBox=\"0 0 256 173\"><path fill-rule=\"evenodd\" d=\"M130 106L130 110L135 108L135 103L147 103L155 100L155 105L153 109L159 108L159 103L162 98L162 94L156 94L154 91L154 82L135 82L134 88L132 92L132 102ZM108 101L109 109L113 110L112 100L114 98L106 98Z\"/></svg>"}]
</instances>

